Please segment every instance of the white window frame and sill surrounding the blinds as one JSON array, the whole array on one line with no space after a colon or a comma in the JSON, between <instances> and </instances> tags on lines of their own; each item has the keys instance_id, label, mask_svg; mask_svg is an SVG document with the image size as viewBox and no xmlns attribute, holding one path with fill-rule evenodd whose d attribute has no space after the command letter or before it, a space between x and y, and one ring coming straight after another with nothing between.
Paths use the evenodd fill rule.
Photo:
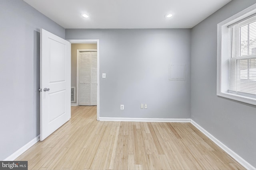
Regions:
<instances>
[{"instance_id":1,"label":"white window frame and sill surrounding the blinds","mask_svg":"<svg viewBox=\"0 0 256 170\"><path fill-rule=\"evenodd\" d=\"M217 96L256 105L256 96L228 92L228 25L256 13L256 4L217 24Z\"/></svg>"}]
</instances>

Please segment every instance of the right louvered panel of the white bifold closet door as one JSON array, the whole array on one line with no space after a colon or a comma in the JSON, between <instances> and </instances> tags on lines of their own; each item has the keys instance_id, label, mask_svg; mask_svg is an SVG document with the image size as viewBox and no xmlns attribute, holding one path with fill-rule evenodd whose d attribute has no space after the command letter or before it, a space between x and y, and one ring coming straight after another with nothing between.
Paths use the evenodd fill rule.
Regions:
<instances>
[{"instance_id":1,"label":"right louvered panel of the white bifold closet door","mask_svg":"<svg viewBox=\"0 0 256 170\"><path fill-rule=\"evenodd\" d=\"M91 106L97 105L97 52L91 52Z\"/></svg>"}]
</instances>

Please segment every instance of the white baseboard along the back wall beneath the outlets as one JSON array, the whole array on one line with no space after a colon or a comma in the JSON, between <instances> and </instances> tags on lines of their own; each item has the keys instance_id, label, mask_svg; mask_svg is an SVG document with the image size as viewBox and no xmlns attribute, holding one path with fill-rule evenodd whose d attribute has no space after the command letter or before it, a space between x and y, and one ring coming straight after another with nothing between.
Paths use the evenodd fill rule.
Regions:
<instances>
[{"instance_id":1,"label":"white baseboard along the back wall beneath the outlets","mask_svg":"<svg viewBox=\"0 0 256 170\"><path fill-rule=\"evenodd\" d=\"M190 119L99 117L99 121L190 122Z\"/></svg>"}]
</instances>

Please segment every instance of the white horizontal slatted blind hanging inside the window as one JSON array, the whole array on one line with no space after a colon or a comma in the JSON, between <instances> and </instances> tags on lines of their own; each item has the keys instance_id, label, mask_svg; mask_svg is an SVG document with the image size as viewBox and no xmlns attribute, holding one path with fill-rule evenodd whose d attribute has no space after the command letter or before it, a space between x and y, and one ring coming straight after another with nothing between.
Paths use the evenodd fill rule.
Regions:
<instances>
[{"instance_id":1,"label":"white horizontal slatted blind hanging inside the window","mask_svg":"<svg viewBox=\"0 0 256 170\"><path fill-rule=\"evenodd\" d=\"M256 16L228 30L228 91L256 95Z\"/></svg>"}]
</instances>

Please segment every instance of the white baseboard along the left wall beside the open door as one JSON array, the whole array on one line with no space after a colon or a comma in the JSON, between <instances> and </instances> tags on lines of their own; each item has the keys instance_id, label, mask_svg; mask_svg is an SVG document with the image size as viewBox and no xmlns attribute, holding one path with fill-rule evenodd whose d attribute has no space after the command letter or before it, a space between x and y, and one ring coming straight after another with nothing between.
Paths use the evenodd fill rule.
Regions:
<instances>
[{"instance_id":1,"label":"white baseboard along the left wall beside the open door","mask_svg":"<svg viewBox=\"0 0 256 170\"><path fill-rule=\"evenodd\" d=\"M16 158L18 158L18 156L23 154L26 150L28 150L33 145L35 145L39 140L40 140L40 135L38 135L37 137L32 139L30 142L28 142L26 145L21 147L19 150L17 150L16 152L14 152L10 156L8 156L4 161L13 161L13 160L15 160Z\"/></svg>"}]
</instances>

